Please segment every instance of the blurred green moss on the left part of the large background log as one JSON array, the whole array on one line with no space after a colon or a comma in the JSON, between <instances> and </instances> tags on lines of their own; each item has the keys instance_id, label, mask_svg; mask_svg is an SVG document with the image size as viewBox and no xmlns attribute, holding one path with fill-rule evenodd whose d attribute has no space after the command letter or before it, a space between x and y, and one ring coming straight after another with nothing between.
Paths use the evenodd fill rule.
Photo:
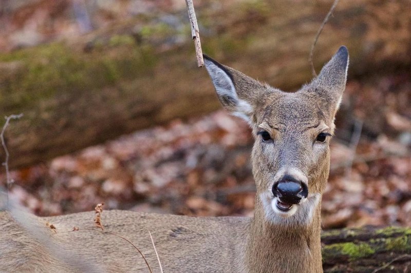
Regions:
<instances>
[{"instance_id":1,"label":"blurred green moss on the left part of the large background log","mask_svg":"<svg viewBox=\"0 0 411 273\"><path fill-rule=\"evenodd\" d=\"M18 112L58 94L93 92L150 73L156 65L151 47L130 47L125 36L110 41L117 47L84 52L53 43L0 54L0 62L21 63L0 74L0 109Z\"/></svg>"}]
</instances>

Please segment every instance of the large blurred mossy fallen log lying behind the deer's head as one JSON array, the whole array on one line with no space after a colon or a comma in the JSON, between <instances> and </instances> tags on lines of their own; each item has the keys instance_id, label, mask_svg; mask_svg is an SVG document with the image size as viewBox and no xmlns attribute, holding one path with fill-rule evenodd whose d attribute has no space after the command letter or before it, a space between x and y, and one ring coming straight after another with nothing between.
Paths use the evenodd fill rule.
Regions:
<instances>
[{"instance_id":1,"label":"large blurred mossy fallen log lying behind the deer's head","mask_svg":"<svg viewBox=\"0 0 411 273\"><path fill-rule=\"evenodd\" d=\"M341 2L316 46L317 72L342 44L350 51L350 76L407 69L409 4ZM204 52L275 87L295 89L311 79L309 49L330 5L308 0L203 5L196 12L206 30ZM147 15L78 41L1 54L0 112L24 113L7 129L10 167L220 107L206 71L196 69L189 32L158 22L158 15ZM181 35L185 42L173 42Z\"/></svg>"}]
</instances>

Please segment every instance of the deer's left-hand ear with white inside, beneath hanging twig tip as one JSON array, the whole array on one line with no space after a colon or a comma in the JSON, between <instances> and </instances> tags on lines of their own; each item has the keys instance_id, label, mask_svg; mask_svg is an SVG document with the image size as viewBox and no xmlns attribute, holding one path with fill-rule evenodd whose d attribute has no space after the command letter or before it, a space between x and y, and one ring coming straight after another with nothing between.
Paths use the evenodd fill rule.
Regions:
<instances>
[{"instance_id":1,"label":"deer's left-hand ear with white inside, beneath hanging twig tip","mask_svg":"<svg viewBox=\"0 0 411 273\"><path fill-rule=\"evenodd\" d=\"M204 65L222 106L233 115L250 123L254 111L253 105L256 103L258 93L264 91L264 85L235 69L221 65L207 55L203 56Z\"/></svg>"}]
</instances>

